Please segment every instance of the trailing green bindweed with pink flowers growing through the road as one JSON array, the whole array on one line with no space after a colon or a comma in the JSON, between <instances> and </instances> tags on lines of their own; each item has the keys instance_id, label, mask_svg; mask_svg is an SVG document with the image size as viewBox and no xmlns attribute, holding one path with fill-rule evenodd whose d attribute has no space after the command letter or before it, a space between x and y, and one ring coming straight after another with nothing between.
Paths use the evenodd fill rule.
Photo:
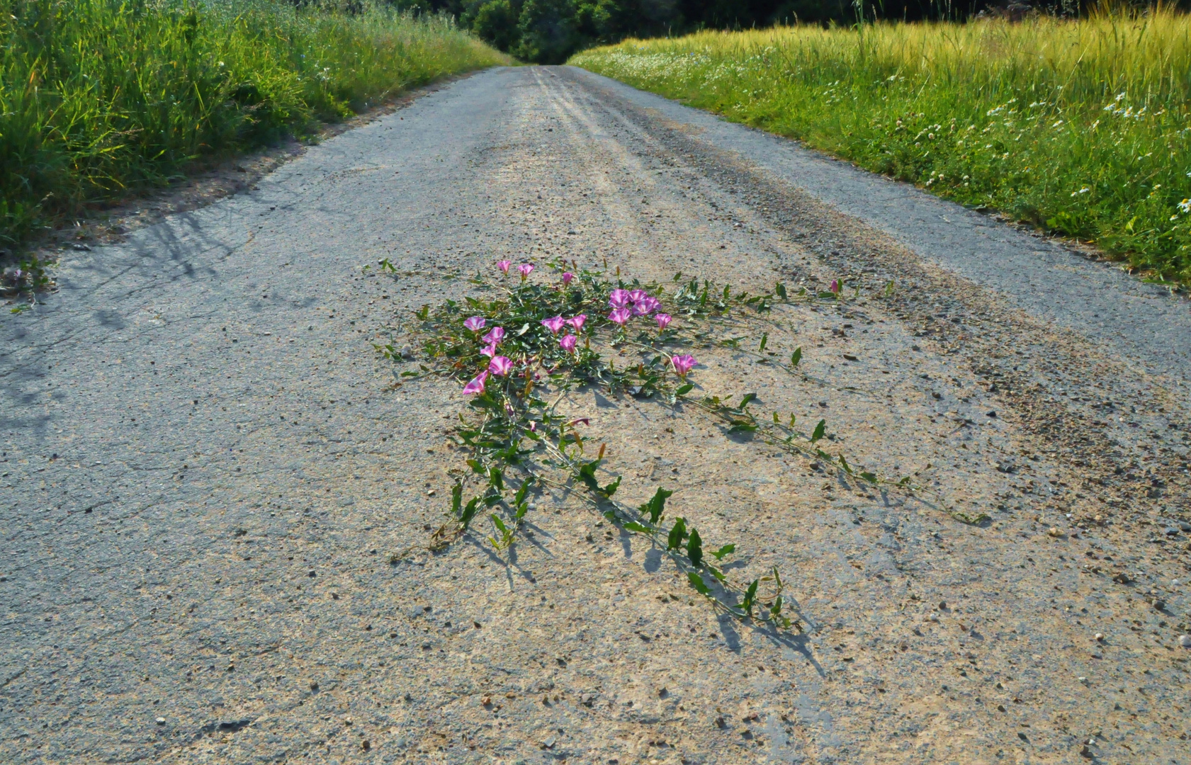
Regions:
<instances>
[{"instance_id":1,"label":"trailing green bindweed with pink flowers growing through the road","mask_svg":"<svg viewBox=\"0 0 1191 765\"><path fill-rule=\"evenodd\" d=\"M606 265L605 270L588 270L572 263L574 270L567 270L557 261L547 281L531 278L531 263L516 269L509 261L497 266L500 280L479 274L470 280L492 297L447 300L437 309L424 305L414 312L416 325L409 328L425 362L400 377L407 381L449 378L462 384L468 396L468 412L459 415L453 437L467 449L472 473L453 487L449 520L434 533L431 549L474 533L480 522L490 524L487 541L497 551L507 549L531 509L531 492L567 487L609 522L665 551L691 586L717 608L741 620L798 627L786 614L778 570L752 581L732 581L723 561L735 554L736 546L711 546L686 518L667 517L671 490L659 486L640 506L617 499L622 477L607 475L604 444L590 454L582 435L588 418L570 418L556 410L562 397L576 388L691 406L717 419L729 434L755 434L871 485L921 491L909 479L886 480L849 464L843 454L824 452L819 446L827 434L823 419L806 433L793 415L785 421L774 413L772 422L756 417L749 410L755 399L752 393L736 405L713 396L690 396L694 385L688 378L698 362L688 352L713 342L712 326L735 323L744 315L763 316L778 303L838 300L838 282L829 292L793 294L779 282L772 292L749 296L709 281L685 282L681 275L675 275L669 291L636 279L625 282L619 269L610 278ZM393 270L387 260L380 267ZM802 348L779 361L766 352L768 332L755 352L741 348L740 340L718 342L799 374ZM375 348L388 359L403 359L392 344ZM612 352L636 352L637 360L617 366Z\"/></svg>"}]
</instances>

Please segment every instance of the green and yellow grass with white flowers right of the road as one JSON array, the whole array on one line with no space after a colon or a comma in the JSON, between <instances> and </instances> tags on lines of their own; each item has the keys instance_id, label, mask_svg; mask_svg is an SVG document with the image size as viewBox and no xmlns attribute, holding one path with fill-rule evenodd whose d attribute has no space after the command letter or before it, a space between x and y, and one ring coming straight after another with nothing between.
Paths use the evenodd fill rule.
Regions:
<instances>
[{"instance_id":1,"label":"green and yellow grass with white flowers right of the road","mask_svg":"<svg viewBox=\"0 0 1191 765\"><path fill-rule=\"evenodd\" d=\"M626 41L572 63L1191 282L1191 18Z\"/></svg>"}]
</instances>

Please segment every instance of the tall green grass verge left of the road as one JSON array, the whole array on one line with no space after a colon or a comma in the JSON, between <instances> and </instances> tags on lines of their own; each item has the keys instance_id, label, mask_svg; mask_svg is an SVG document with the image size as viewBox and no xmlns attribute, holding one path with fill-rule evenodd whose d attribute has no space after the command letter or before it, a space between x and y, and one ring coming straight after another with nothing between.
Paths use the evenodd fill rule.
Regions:
<instances>
[{"instance_id":1,"label":"tall green grass verge left of the road","mask_svg":"<svg viewBox=\"0 0 1191 765\"><path fill-rule=\"evenodd\" d=\"M447 18L268 0L0 0L0 243L507 58Z\"/></svg>"}]
</instances>

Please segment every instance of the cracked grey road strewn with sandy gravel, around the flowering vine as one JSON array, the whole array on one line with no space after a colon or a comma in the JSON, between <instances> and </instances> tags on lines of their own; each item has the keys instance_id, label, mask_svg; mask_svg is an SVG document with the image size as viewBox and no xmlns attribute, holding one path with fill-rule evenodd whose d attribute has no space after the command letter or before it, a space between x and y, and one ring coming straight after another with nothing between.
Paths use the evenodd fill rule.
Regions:
<instances>
[{"instance_id":1,"label":"cracked grey road strewn with sandy gravel, around the flowering vine","mask_svg":"<svg viewBox=\"0 0 1191 765\"><path fill-rule=\"evenodd\" d=\"M846 279L757 319L805 378L713 348L696 379L991 520L575 394L628 498L675 489L804 632L717 617L565 495L509 554L424 552L462 397L372 343L556 255ZM524 67L55 275L0 319L0 760L1191 763L1191 305L1110 266Z\"/></svg>"}]
</instances>

